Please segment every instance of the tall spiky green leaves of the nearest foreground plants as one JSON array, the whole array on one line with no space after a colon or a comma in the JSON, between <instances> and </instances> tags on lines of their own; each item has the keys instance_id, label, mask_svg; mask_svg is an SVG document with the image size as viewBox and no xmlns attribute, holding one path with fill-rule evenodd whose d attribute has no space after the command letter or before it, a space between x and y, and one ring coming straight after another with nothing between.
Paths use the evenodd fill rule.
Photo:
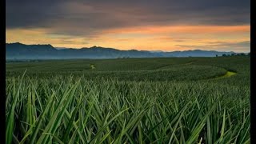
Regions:
<instances>
[{"instance_id":1,"label":"tall spiky green leaves of the nearest foreground plants","mask_svg":"<svg viewBox=\"0 0 256 144\"><path fill-rule=\"evenodd\" d=\"M243 143L250 88L7 78L6 122L6 138L25 143Z\"/></svg>"}]
</instances>

